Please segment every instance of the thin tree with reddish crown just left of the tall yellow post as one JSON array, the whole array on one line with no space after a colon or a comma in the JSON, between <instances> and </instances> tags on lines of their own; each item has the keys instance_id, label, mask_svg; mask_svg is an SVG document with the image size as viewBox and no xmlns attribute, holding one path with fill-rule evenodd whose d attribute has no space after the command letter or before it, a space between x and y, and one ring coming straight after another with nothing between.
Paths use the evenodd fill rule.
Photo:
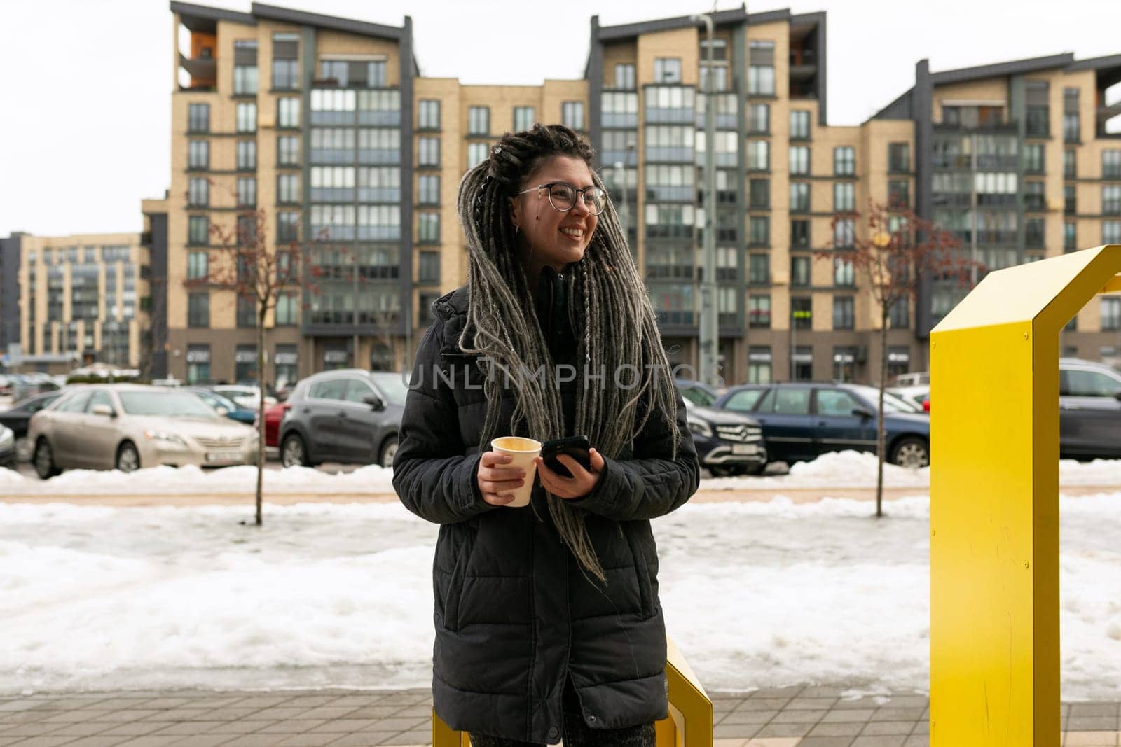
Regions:
<instances>
[{"instance_id":1,"label":"thin tree with reddish crown just left of the tall yellow post","mask_svg":"<svg viewBox=\"0 0 1121 747\"><path fill-rule=\"evenodd\" d=\"M858 235L855 226L863 220L867 237ZM902 205L884 205L869 200L868 212L837 213L832 221L830 246L815 253L818 260L840 260L852 265L862 277L880 315L880 398L876 433L877 477L876 515L883 515L883 390L888 383L888 320L897 304L910 305L918 296L924 277L953 281L960 287L970 283L974 264L958 250L954 234L932 221L921 218ZM982 268L983 269L983 268Z\"/></svg>"}]
</instances>

